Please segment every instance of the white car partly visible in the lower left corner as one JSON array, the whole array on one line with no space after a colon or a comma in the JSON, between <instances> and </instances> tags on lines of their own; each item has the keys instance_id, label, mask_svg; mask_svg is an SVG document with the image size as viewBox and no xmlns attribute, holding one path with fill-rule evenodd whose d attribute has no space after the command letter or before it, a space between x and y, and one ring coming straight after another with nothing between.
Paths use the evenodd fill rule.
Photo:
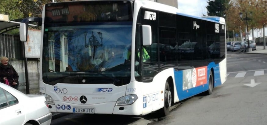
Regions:
<instances>
[{"instance_id":1,"label":"white car partly visible in the lower left corner","mask_svg":"<svg viewBox=\"0 0 267 125\"><path fill-rule=\"evenodd\" d=\"M25 95L0 83L1 125L50 125L51 119L45 96Z\"/></svg>"}]
</instances>

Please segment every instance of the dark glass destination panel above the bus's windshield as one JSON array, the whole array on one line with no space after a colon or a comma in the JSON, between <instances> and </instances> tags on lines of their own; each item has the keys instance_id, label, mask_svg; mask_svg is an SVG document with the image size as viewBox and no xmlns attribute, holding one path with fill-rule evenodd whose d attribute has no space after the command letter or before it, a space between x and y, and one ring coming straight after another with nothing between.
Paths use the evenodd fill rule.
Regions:
<instances>
[{"instance_id":1,"label":"dark glass destination panel above the bus's windshield","mask_svg":"<svg viewBox=\"0 0 267 125\"><path fill-rule=\"evenodd\" d=\"M109 22L132 20L128 1L83 1L45 6L45 23Z\"/></svg>"}]
</instances>

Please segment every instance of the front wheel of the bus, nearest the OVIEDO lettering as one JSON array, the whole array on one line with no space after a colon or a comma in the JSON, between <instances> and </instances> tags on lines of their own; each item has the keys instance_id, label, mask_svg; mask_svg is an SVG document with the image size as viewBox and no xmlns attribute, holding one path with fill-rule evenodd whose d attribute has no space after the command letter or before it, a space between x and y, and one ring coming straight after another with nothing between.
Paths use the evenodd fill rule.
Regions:
<instances>
[{"instance_id":1,"label":"front wheel of the bus, nearest the OVIEDO lettering","mask_svg":"<svg viewBox=\"0 0 267 125\"><path fill-rule=\"evenodd\" d=\"M165 117L168 116L170 113L170 107L171 107L171 91L168 81L165 83L165 89L164 89L164 106L161 108L157 113L159 117Z\"/></svg>"}]
</instances>

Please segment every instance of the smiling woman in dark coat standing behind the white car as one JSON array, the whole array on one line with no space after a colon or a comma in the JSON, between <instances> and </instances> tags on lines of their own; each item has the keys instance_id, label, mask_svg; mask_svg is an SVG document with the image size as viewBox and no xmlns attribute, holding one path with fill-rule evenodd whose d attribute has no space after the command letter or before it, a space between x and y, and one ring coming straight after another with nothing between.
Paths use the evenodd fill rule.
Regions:
<instances>
[{"instance_id":1,"label":"smiling woman in dark coat standing behind the white car","mask_svg":"<svg viewBox=\"0 0 267 125\"><path fill-rule=\"evenodd\" d=\"M9 86L18 89L19 75L12 65L8 63L8 58L3 56L0 58L0 82L5 83L7 79Z\"/></svg>"}]
</instances>

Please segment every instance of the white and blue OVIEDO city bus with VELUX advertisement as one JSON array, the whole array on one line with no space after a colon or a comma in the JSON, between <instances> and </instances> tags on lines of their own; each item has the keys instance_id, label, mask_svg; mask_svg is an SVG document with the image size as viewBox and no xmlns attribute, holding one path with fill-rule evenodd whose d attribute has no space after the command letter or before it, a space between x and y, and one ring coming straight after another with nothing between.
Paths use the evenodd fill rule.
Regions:
<instances>
[{"instance_id":1,"label":"white and blue OVIEDO city bus with VELUX advertisement","mask_svg":"<svg viewBox=\"0 0 267 125\"><path fill-rule=\"evenodd\" d=\"M226 81L226 23L147 0L49 3L40 94L53 113L146 115Z\"/></svg>"}]
</instances>

